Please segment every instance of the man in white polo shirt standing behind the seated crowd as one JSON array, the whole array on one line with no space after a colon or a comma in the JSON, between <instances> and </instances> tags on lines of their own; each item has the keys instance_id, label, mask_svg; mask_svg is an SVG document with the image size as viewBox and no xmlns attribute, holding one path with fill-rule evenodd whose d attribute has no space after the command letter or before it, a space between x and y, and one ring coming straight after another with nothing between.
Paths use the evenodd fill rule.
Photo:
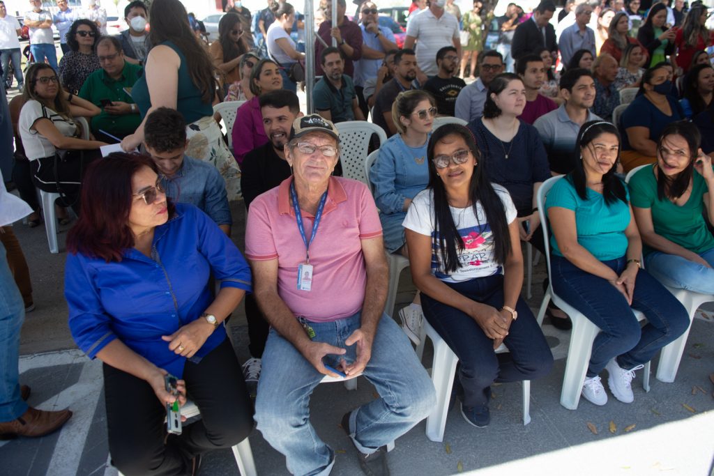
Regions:
<instances>
[{"instance_id":1,"label":"man in white polo shirt standing behind the seated crowd","mask_svg":"<svg viewBox=\"0 0 714 476\"><path fill-rule=\"evenodd\" d=\"M454 46L461 58L461 39L458 35L456 16L444 10L446 0L431 0L428 9L420 11L406 26L404 49L413 49L416 42L416 62L421 70L417 74L419 83L426 82L426 76L436 76L436 52L444 46ZM417 41L418 40L418 41Z\"/></svg>"}]
</instances>

